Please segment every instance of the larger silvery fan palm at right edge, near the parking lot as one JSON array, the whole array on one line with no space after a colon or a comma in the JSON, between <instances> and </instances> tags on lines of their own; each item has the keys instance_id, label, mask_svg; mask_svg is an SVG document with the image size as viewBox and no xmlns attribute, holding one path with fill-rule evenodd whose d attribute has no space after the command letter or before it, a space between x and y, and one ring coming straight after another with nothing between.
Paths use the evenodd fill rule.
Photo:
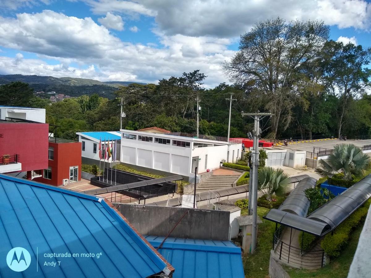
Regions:
<instances>
[{"instance_id":1,"label":"larger silvery fan palm at right edge, near the parking lot","mask_svg":"<svg viewBox=\"0 0 371 278\"><path fill-rule=\"evenodd\" d=\"M326 160L320 159L320 167L314 171L322 178L334 173L343 173L344 180L362 178L365 170L370 169L370 157L353 144L336 145Z\"/></svg>"}]
</instances>

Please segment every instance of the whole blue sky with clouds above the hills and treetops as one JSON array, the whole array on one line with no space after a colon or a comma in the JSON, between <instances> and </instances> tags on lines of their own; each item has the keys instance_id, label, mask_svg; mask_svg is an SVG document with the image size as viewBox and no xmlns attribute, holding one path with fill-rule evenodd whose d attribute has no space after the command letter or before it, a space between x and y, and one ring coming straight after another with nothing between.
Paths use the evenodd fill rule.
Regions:
<instances>
[{"instance_id":1,"label":"whole blue sky with clouds above the hills and treetops","mask_svg":"<svg viewBox=\"0 0 371 278\"><path fill-rule=\"evenodd\" d=\"M0 74L157 83L198 69L214 87L240 35L278 16L371 47L371 0L0 0Z\"/></svg>"}]
</instances>

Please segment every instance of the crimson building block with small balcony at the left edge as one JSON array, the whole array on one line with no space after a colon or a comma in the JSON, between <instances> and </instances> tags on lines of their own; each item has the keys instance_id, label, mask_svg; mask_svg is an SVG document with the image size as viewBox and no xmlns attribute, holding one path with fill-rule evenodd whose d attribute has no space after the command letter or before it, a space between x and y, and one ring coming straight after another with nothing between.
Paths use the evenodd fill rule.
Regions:
<instances>
[{"instance_id":1,"label":"crimson building block with small balcony at the left edge","mask_svg":"<svg viewBox=\"0 0 371 278\"><path fill-rule=\"evenodd\" d=\"M30 175L47 168L48 136L47 123L0 121L0 172Z\"/></svg>"}]
</instances>

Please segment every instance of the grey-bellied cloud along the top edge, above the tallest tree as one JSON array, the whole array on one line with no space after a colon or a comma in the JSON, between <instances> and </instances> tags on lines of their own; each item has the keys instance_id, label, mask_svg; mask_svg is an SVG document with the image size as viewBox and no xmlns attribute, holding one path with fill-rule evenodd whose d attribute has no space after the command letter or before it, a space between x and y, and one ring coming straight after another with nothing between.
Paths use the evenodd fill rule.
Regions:
<instances>
[{"instance_id":1,"label":"grey-bellied cloud along the top edge, above the tallest tree","mask_svg":"<svg viewBox=\"0 0 371 278\"><path fill-rule=\"evenodd\" d=\"M155 17L168 35L236 37L256 22L281 17L286 20L323 20L339 28L370 29L371 3L366 0L82 0L92 11L117 11Z\"/></svg>"}]
</instances>

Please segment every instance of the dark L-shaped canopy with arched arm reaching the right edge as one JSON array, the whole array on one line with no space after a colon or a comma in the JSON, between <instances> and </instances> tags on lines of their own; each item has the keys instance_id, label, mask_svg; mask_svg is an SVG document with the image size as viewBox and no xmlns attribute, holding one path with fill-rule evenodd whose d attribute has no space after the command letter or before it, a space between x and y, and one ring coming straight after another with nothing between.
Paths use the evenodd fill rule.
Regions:
<instances>
[{"instance_id":1,"label":"dark L-shaped canopy with arched arm reaching the right edge","mask_svg":"<svg viewBox=\"0 0 371 278\"><path fill-rule=\"evenodd\" d=\"M368 175L306 217L283 211L280 206L279 209L271 209L263 218L323 236L335 229L370 197L371 175Z\"/></svg>"}]
</instances>

